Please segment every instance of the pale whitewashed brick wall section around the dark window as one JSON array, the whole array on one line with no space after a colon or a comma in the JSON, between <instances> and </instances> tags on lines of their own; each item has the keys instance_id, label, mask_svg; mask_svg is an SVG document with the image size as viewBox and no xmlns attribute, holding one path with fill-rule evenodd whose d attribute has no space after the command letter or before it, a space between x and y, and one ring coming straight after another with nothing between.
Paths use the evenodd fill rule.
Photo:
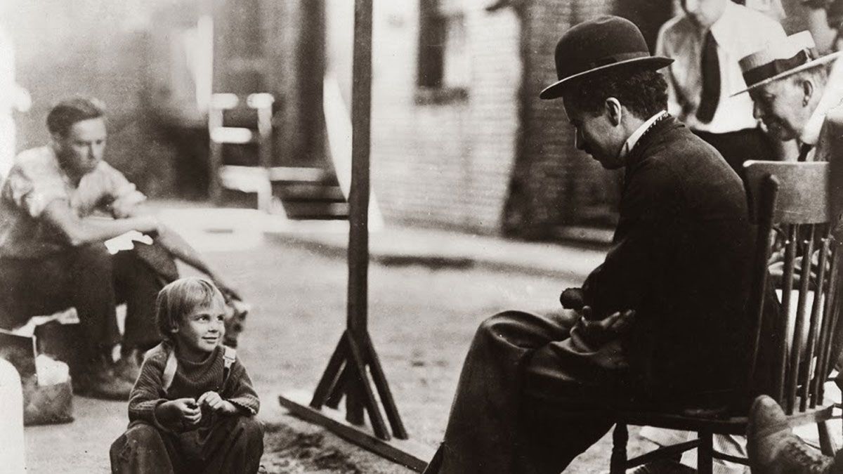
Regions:
<instances>
[{"instance_id":1,"label":"pale whitewashed brick wall section around the dark window","mask_svg":"<svg viewBox=\"0 0 843 474\"><path fill-rule=\"evenodd\" d=\"M332 4L329 63L347 96L352 16ZM488 4L461 5L466 96L418 104L418 2L375 2L371 173L388 221L487 233L501 227L519 124L520 25L512 10L490 13Z\"/></svg>"}]
</instances>

